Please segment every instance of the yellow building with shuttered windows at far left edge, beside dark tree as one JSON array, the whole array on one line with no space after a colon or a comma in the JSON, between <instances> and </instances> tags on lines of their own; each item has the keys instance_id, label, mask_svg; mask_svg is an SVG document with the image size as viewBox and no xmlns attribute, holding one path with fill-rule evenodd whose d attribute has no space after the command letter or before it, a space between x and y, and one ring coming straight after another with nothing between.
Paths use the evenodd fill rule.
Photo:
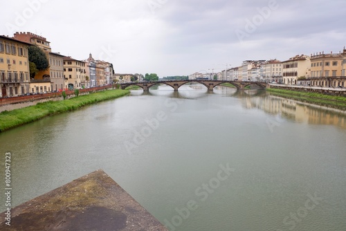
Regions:
<instances>
[{"instance_id":1,"label":"yellow building with shuttered windows at far left edge, beside dark tree","mask_svg":"<svg viewBox=\"0 0 346 231\"><path fill-rule=\"evenodd\" d=\"M28 46L0 35L0 97L30 93Z\"/></svg>"}]
</instances>

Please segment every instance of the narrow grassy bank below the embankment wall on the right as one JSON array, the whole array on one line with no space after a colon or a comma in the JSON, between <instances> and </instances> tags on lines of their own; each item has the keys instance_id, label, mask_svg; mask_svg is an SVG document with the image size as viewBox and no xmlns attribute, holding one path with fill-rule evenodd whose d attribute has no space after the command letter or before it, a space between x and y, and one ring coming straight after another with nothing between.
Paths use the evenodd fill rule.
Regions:
<instances>
[{"instance_id":1,"label":"narrow grassy bank below the embankment wall on the right","mask_svg":"<svg viewBox=\"0 0 346 231\"><path fill-rule=\"evenodd\" d=\"M344 96L324 95L321 93L283 89L266 89L266 91L272 93L273 95L282 96L284 98L302 100L304 102L311 102L313 104L336 107L338 109L346 110L346 97Z\"/></svg>"}]
</instances>

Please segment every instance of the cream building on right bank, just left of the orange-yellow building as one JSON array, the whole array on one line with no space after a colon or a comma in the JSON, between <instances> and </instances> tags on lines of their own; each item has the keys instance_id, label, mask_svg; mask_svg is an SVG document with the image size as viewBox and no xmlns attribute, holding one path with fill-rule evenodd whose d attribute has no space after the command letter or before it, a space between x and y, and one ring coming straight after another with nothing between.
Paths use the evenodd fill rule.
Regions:
<instances>
[{"instance_id":1,"label":"cream building on right bank, just left of the orange-yellow building","mask_svg":"<svg viewBox=\"0 0 346 231\"><path fill-rule=\"evenodd\" d=\"M307 55L296 55L282 62L284 84L296 85L298 77L309 77L311 61Z\"/></svg>"}]
</instances>

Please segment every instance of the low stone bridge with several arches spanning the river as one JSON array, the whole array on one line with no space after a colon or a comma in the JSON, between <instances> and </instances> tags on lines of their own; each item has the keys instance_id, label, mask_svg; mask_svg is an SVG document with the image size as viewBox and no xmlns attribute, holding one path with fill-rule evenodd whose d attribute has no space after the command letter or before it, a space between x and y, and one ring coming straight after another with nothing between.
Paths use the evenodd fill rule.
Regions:
<instances>
[{"instance_id":1,"label":"low stone bridge with several arches spanning the river","mask_svg":"<svg viewBox=\"0 0 346 231\"><path fill-rule=\"evenodd\" d=\"M230 81L230 80L162 80L162 81L156 81L156 82L127 82L120 84L121 89L126 89L128 86L140 86L143 91L149 91L149 88L156 85L156 84L166 84L168 86L172 86L174 91L178 91L179 87L183 86L184 84L188 84L190 82L198 82L199 84L203 84L207 87L208 91L212 91L215 86L218 86L220 84L232 84L237 89L244 89L246 86L249 85L257 85L260 86L262 89L266 88L265 82L253 82L253 81Z\"/></svg>"}]
</instances>

